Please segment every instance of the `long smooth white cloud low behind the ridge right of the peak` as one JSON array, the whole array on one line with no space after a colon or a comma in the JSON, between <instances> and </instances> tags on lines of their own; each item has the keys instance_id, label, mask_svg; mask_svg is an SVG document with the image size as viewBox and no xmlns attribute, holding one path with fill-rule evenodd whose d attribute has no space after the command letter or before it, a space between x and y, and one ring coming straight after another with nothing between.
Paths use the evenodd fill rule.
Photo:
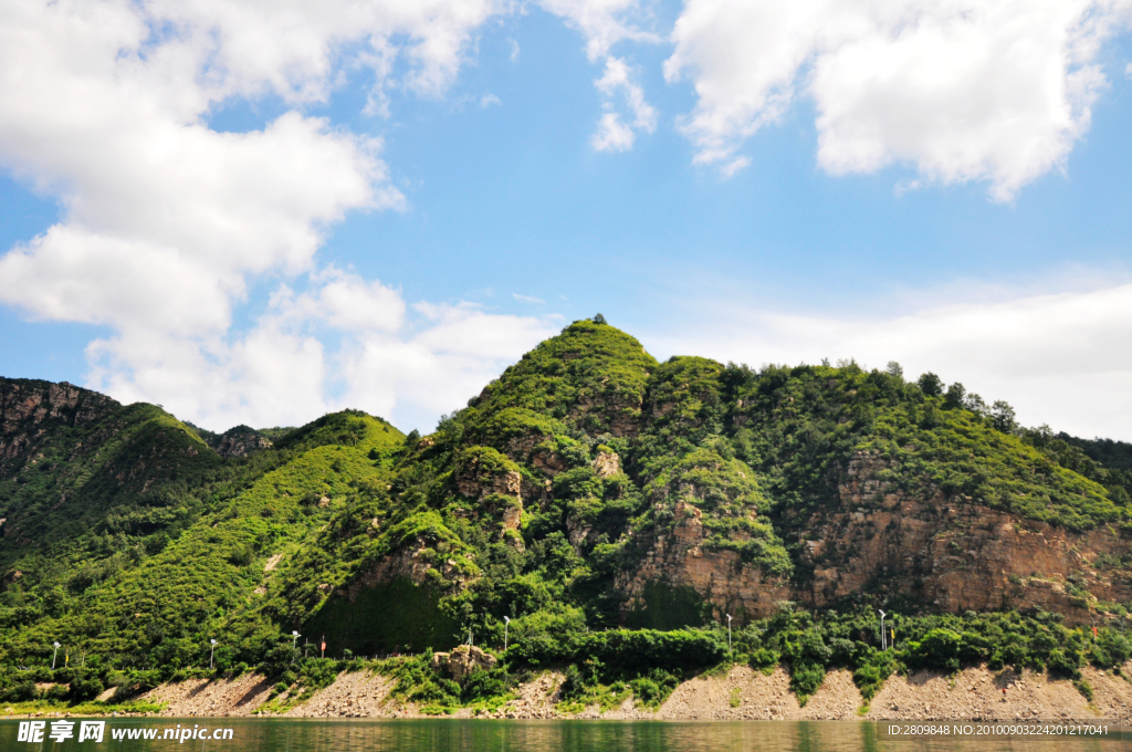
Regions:
<instances>
[{"instance_id":1,"label":"long smooth white cloud low behind the ridge right of the peak","mask_svg":"<svg viewBox=\"0 0 1132 752\"><path fill-rule=\"evenodd\" d=\"M757 366L856 358L899 361L1006 400L1027 425L1132 441L1132 284L998 302L933 306L892 317L797 316L717 309L696 332L642 337L662 353ZM711 315L709 315L711 318ZM705 335L704 332L714 334Z\"/></svg>"}]
</instances>

